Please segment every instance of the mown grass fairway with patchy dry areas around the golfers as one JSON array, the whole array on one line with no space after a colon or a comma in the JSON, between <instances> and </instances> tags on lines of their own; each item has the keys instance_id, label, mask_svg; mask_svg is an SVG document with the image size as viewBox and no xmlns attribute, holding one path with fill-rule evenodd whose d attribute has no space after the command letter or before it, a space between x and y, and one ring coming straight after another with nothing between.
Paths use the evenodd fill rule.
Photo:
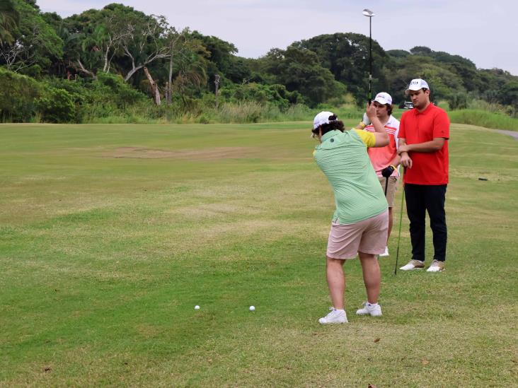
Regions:
<instances>
[{"instance_id":1,"label":"mown grass fairway with patchy dry areas around the golfers","mask_svg":"<svg viewBox=\"0 0 518 388\"><path fill-rule=\"evenodd\" d=\"M384 316L355 260L322 327L309 127L1 125L0 385L516 386L518 141L454 124L447 269L393 276L398 189Z\"/></svg>"}]
</instances>

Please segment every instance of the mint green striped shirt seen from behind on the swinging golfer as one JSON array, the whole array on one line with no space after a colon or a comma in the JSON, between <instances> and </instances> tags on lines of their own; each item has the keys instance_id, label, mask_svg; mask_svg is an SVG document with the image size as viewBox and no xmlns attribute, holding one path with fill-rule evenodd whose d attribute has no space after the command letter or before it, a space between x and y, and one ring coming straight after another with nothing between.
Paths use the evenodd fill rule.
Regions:
<instances>
[{"instance_id":1,"label":"mint green striped shirt seen from behind on the swinging golfer","mask_svg":"<svg viewBox=\"0 0 518 388\"><path fill-rule=\"evenodd\" d=\"M335 193L333 221L357 223L388 208L383 189L356 131L329 131L313 153Z\"/></svg>"}]
</instances>

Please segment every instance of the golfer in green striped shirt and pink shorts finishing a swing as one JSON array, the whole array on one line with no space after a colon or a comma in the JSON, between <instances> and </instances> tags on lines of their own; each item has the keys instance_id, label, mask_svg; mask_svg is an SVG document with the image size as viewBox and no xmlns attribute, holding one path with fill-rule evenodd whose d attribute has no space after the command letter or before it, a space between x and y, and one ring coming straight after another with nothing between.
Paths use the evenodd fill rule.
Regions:
<instances>
[{"instance_id":1,"label":"golfer in green striped shirt and pink shorts finishing a swing","mask_svg":"<svg viewBox=\"0 0 518 388\"><path fill-rule=\"evenodd\" d=\"M313 155L328 177L335 194L336 210L326 252L326 278L333 307L321 324L345 323L345 278L343 264L359 257L367 290L367 302L357 314L381 315L378 304L381 273L376 255L385 250L388 230L388 205L367 147L388 144L384 124L376 117L374 104L367 105L367 116L375 132L351 129L332 112L320 112L313 120L313 136L320 141Z\"/></svg>"}]
</instances>

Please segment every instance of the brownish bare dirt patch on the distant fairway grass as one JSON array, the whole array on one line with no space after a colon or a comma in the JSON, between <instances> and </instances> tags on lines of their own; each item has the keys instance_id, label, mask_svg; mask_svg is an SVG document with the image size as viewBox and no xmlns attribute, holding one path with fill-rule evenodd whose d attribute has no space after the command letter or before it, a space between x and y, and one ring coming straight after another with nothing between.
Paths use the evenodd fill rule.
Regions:
<instances>
[{"instance_id":1,"label":"brownish bare dirt patch on the distant fairway grass","mask_svg":"<svg viewBox=\"0 0 518 388\"><path fill-rule=\"evenodd\" d=\"M260 155L259 148L252 147L214 147L200 150L175 150L166 151L143 147L120 147L105 154L107 158L135 158L135 159L241 159Z\"/></svg>"}]
</instances>

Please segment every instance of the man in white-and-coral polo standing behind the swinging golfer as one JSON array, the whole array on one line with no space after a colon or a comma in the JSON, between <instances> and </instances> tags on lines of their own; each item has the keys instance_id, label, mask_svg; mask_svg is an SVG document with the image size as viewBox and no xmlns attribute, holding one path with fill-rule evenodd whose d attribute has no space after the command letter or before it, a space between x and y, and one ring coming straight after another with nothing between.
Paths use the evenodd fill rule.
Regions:
<instances>
[{"instance_id":1,"label":"man in white-and-coral polo standing behind the swinging golfer","mask_svg":"<svg viewBox=\"0 0 518 388\"><path fill-rule=\"evenodd\" d=\"M388 144L380 148L367 148L369 158L378 176L379 183L386 189L386 201L388 203L388 234L385 246L385 252L380 257L388 256L388 238L391 237L393 225L394 196L396 196L396 188L398 186L399 169L398 165L401 157L398 155L398 132L399 121L392 115L392 97L388 93L381 92L376 94L374 98L374 107L376 107L376 117L379 118L381 124L384 124L385 131L388 134ZM364 119L357 125L357 129L374 132L374 125L369 124L369 120L364 115Z\"/></svg>"}]
</instances>

